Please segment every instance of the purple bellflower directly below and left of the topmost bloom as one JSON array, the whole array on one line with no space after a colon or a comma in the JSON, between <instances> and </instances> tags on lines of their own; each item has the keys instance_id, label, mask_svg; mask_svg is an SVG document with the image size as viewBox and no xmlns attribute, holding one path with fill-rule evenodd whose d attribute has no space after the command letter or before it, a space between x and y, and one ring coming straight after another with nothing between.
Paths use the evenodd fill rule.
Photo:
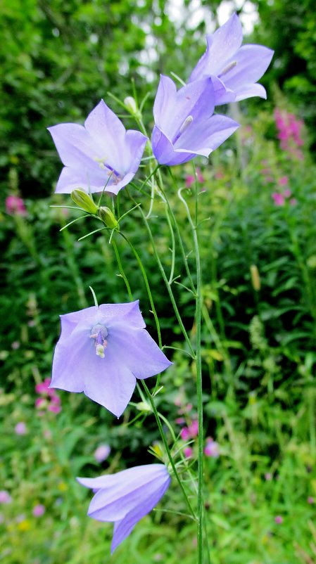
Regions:
<instances>
[{"instance_id":1,"label":"purple bellflower directly below and left of the topmost bloom","mask_svg":"<svg viewBox=\"0 0 316 564\"><path fill-rule=\"evenodd\" d=\"M153 116L153 154L160 165L180 165L196 155L210 153L236 131L239 124L224 115L213 115L212 79L196 80L177 91L161 75Z\"/></svg>"}]
</instances>

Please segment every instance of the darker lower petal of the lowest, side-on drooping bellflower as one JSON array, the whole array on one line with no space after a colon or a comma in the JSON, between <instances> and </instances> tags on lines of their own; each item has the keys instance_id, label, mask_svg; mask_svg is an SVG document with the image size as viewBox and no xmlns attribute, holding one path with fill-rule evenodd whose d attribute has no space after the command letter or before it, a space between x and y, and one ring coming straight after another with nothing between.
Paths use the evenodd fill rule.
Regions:
<instances>
[{"instance_id":1,"label":"darker lower petal of the lowest, side-on drooping bellflower","mask_svg":"<svg viewBox=\"0 0 316 564\"><path fill-rule=\"evenodd\" d=\"M122 520L114 524L113 540L111 544L111 554L115 551L118 545L128 537L132 532L134 526L138 521L149 513L163 497L170 485L170 477L160 483L152 492L147 492L146 498L141 506L132 509Z\"/></svg>"}]
</instances>

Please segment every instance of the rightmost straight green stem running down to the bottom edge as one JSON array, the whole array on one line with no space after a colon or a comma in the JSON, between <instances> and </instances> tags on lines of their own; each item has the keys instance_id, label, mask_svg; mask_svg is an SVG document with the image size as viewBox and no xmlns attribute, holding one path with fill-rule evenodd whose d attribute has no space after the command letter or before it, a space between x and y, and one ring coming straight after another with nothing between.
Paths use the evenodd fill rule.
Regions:
<instances>
[{"instance_id":1,"label":"rightmost straight green stem running down to the bottom edge","mask_svg":"<svg viewBox=\"0 0 316 564\"><path fill-rule=\"evenodd\" d=\"M196 224L192 221L189 206L184 200L181 189L178 196L187 211L187 217L191 226L194 252L196 257L196 399L198 406L198 564L203 564L203 387L202 387L202 359L201 359L201 261L198 248L198 234ZM197 198L196 191L196 221L197 221Z\"/></svg>"}]
</instances>

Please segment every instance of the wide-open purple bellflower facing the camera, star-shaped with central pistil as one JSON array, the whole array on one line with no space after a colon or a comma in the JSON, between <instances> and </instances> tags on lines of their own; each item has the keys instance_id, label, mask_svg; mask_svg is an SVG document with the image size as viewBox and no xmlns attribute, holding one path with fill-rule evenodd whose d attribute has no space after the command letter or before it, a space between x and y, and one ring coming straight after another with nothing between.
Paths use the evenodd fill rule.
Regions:
<instances>
[{"instance_id":1,"label":"wide-open purple bellflower facing the camera, star-shaped with central pistil","mask_svg":"<svg viewBox=\"0 0 316 564\"><path fill-rule=\"evenodd\" d=\"M119 417L136 378L154 376L172 364L145 326L138 300L61 315L51 387L84 392Z\"/></svg>"}]
</instances>

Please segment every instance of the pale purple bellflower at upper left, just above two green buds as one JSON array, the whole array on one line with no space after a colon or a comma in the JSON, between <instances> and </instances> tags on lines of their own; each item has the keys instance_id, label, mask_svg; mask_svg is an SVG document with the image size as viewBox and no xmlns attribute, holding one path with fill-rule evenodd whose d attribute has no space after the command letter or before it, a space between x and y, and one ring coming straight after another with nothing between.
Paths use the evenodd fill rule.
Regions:
<instances>
[{"instance_id":1,"label":"pale purple bellflower at upper left, just above two green buds","mask_svg":"<svg viewBox=\"0 0 316 564\"><path fill-rule=\"evenodd\" d=\"M84 126L63 123L49 127L64 168L56 192L71 193L75 188L87 192L117 194L136 174L147 138L126 131L118 116L101 100L89 113Z\"/></svg>"}]
</instances>

